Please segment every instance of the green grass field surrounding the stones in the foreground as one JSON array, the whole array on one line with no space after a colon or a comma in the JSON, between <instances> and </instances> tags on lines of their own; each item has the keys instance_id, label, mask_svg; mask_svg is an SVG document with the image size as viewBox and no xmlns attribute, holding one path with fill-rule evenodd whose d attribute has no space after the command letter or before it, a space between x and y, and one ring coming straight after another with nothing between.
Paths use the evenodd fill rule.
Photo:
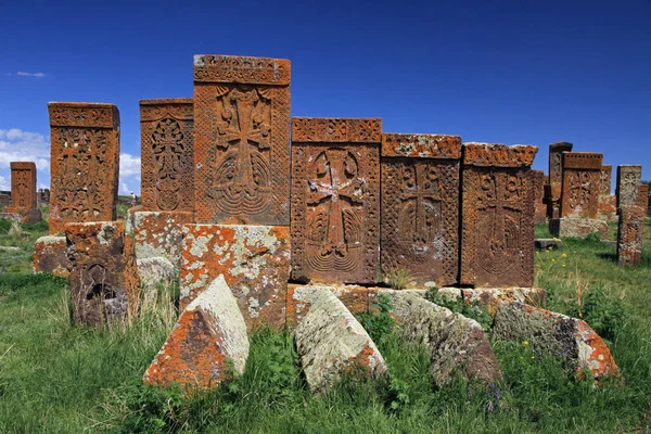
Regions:
<instances>
[{"instance_id":1,"label":"green grass field surrounding the stones in the foreground","mask_svg":"<svg viewBox=\"0 0 651 434\"><path fill-rule=\"evenodd\" d=\"M144 387L142 374L176 321L177 288L162 288L137 318L91 329L72 320L67 281L31 273L44 226L0 220L0 432L560 433L651 430L651 220L642 261L620 268L615 247L564 240L536 253L547 307L580 317L604 337L622 379L574 379L527 342L493 342L503 380L432 386L429 356L399 344L383 317L367 329L391 380L346 379L312 396L289 333L251 337L245 373L208 394ZM21 232L22 231L22 232ZM546 234L545 227L536 235ZM30 244L31 243L31 244ZM16 247L9 248L5 247Z\"/></svg>"}]
</instances>

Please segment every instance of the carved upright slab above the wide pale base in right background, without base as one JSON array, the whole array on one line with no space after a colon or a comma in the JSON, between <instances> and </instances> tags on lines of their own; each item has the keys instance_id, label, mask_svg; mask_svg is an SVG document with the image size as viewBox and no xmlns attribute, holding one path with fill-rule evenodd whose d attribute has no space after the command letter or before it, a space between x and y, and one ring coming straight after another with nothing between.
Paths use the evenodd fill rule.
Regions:
<instances>
[{"instance_id":1,"label":"carved upright slab above the wide pale base in right background, without base","mask_svg":"<svg viewBox=\"0 0 651 434\"><path fill-rule=\"evenodd\" d=\"M597 218L602 161L595 152L563 153L561 217Z\"/></svg>"}]
</instances>

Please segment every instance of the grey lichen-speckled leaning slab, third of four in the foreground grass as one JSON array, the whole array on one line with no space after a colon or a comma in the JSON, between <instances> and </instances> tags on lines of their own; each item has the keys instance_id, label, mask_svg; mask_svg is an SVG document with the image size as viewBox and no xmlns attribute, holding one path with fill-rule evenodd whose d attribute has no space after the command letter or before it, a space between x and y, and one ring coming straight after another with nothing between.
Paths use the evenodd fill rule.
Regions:
<instances>
[{"instance_id":1,"label":"grey lichen-speckled leaning slab, third of four in the foreground grass","mask_svg":"<svg viewBox=\"0 0 651 434\"><path fill-rule=\"evenodd\" d=\"M455 375L487 383L501 379L497 358L478 322L410 293L381 293L391 298L398 336L430 348L432 379L437 386Z\"/></svg>"}]
</instances>

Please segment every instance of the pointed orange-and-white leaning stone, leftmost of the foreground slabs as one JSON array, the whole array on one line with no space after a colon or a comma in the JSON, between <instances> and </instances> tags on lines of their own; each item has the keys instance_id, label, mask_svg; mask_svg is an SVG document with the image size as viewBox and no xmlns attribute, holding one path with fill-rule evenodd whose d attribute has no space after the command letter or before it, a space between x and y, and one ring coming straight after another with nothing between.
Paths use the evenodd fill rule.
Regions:
<instances>
[{"instance_id":1,"label":"pointed orange-and-white leaning stone, leftmost of the foreground slabs","mask_svg":"<svg viewBox=\"0 0 651 434\"><path fill-rule=\"evenodd\" d=\"M142 380L162 387L206 390L243 373L247 358L244 318L219 276L183 310Z\"/></svg>"}]
</instances>

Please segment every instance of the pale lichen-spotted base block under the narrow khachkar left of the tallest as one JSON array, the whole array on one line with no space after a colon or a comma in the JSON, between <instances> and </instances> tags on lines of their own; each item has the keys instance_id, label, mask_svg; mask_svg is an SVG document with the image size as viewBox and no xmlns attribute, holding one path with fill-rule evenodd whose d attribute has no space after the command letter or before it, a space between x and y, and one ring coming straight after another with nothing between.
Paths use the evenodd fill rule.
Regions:
<instances>
[{"instance_id":1,"label":"pale lichen-spotted base block under the narrow khachkar left of the tallest","mask_svg":"<svg viewBox=\"0 0 651 434\"><path fill-rule=\"evenodd\" d=\"M178 269L183 248L183 225L193 222L192 213L146 212L135 213L136 256L165 257Z\"/></svg>"}]
</instances>

